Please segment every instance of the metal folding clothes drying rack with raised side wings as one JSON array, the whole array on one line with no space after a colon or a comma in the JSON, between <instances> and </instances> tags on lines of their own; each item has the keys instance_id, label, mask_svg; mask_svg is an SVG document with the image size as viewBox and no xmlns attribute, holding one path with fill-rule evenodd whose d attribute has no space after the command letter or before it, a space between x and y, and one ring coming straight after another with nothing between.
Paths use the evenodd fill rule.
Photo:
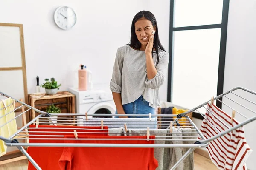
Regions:
<instances>
[{"instance_id":1,"label":"metal folding clothes drying rack with raised side wings","mask_svg":"<svg viewBox=\"0 0 256 170\"><path fill-rule=\"evenodd\" d=\"M241 93L235 93L234 91L238 91L238 92L241 92ZM245 94L245 97L243 97L241 94ZM38 132L41 132L41 133L58 133L58 130L56 130L56 132L54 131L47 131L47 127L37 127L38 125L56 125L56 127L50 127L49 129L58 129L58 124L63 124L61 123L62 121L66 121L66 119L72 119L72 123L65 123L65 124L70 124L70 125L76 125L76 126L73 126L71 129L74 130L74 133L73 132L70 132L70 130L67 132L64 131L64 129L62 129L63 131L61 131L61 133L67 133L67 134L74 134L75 136L79 133L79 134L83 134L83 133L106 133L104 131L102 132L99 132L99 129L95 129L97 130L97 132L78 132L76 133L76 130L79 130L79 127L81 128L81 125L83 125L83 121L91 121L91 120L87 120L87 117L88 116L95 116L95 114L79 114L79 113L76 113L76 114L73 114L72 118L70 117L63 117L63 116L70 116L70 114L58 114L59 116L62 116L60 118L58 118L58 122L53 122L52 119L51 119L51 116L55 116L55 114L50 114L50 113L46 113L44 111L40 111L36 108L33 108L29 105L27 105L26 103L23 103L17 99L14 99L14 102L19 102L22 106L26 106L27 110L24 111L23 113L19 114L18 116L16 116L14 119L17 119L17 117L19 116L22 116L23 114L26 114L26 112L28 112L29 110L34 110L38 113L40 113L40 115L38 115L37 117L35 117L35 119L33 119L32 121L30 121L27 125L24 125L22 128L20 128L19 130L17 130L17 132L15 134L13 134L12 136L10 136L8 139L3 137L3 136L0 136L0 139L3 140L5 142L5 144L7 146L12 146L12 147L17 147L28 159L29 161L38 169L38 170L41 170L41 168L38 166L38 164L32 159L31 156L29 156L29 154L26 152L26 150L24 150L24 146L28 146L28 147L144 147L144 148L148 148L148 147L153 147L153 148L172 148L172 147L184 147L184 148L189 148L189 150L180 158L179 161L176 162L176 164L171 168L171 170L175 170L175 168L187 157L189 156L190 153L192 153L196 148L199 148L199 147L207 147L208 146L208 142L211 142L212 140L215 140L217 138L219 138L220 136L223 136L229 132L231 132L232 130L235 130L243 125L246 125L252 121L254 121L256 119L256 115L254 115L256 113L256 102L252 102L250 101L248 98L248 94L252 95L252 97L254 97L255 101L256 101L256 92L253 92L253 91L250 91L246 88L242 88L242 87L237 87L237 88L233 88L231 89L230 91L227 91L215 98L212 97L211 100L203 103L202 105L199 105L198 107L196 108L193 108L185 113L182 113L182 114L179 114L179 115L151 115L151 114L148 114L148 115L144 115L144 114L139 114L139 115L133 115L133 114L97 114L97 116L110 116L110 117L113 117L113 116L133 116L133 117L137 117L137 116L147 116L149 118L148 120L148 123L149 121L152 121L151 120L151 117L154 117L154 121L157 123L157 128L158 129L163 129L163 128L166 128L166 127L163 127L163 126L158 126L160 124L162 124L162 122L166 122L166 121L171 121L170 122L170 126L169 126L169 129L170 131L167 133L171 136L166 136L166 133L163 134L163 136L155 136L155 139L142 139L142 140L164 140L164 141L172 141L172 140L180 140L180 141L191 141L193 142L193 144L108 144L108 143L102 143L102 144L95 144L95 143L83 143L83 144L78 144L78 143L23 143L23 142L20 142L20 140L22 139L29 139L29 140L33 140L33 139L36 139L36 140L65 140L64 138L64 135L63 136L58 136L56 135L56 137L58 138L49 138L49 136L47 135L36 135L38 136L38 138L35 138L35 135L29 135L29 134L26 134L27 131L29 132L30 130L32 130L32 128L28 128L29 125L32 125L32 124L35 124L36 127L35 128L38 128L42 131L38 131L37 130L37 133ZM11 96L8 96L7 94L4 94L2 92L0 92L0 97L1 96L5 96L5 97L11 97ZM245 113L240 113L238 110L236 110L236 113L239 113L241 116L243 116L244 118L246 118L245 121L239 123L239 125L236 125L236 126L233 126L233 127L230 127L228 130L225 130L224 132L221 132L221 133L218 133L217 135L209 138L209 139L205 139L205 137L202 135L202 133L200 132L200 130L198 130L198 127L195 126L194 122L192 122L192 120L186 116L187 113L190 113L190 112L198 112L199 114L201 114L201 116L204 117L204 114L201 113L201 109L203 108L204 111L207 109L206 105L208 104L208 102L214 102L214 101L219 101L221 102L223 105L227 106L228 108L232 109L232 110L235 110L234 109L234 105L232 105L232 107L230 107L230 104L226 104L225 102L223 102L221 100L221 98L225 98L225 100L229 101L230 102L233 102L236 104L237 106L237 109L246 109L248 113L248 111L250 113L253 113L253 116L251 118L248 118L248 116L245 116ZM234 99L232 99L234 98ZM250 96L251 98L251 96ZM239 99L239 101L241 102L237 102L237 100ZM249 106L245 106L245 102L249 103ZM13 103L14 104L14 103ZM11 104L12 105L12 104ZM9 105L5 106L5 107L8 107ZM2 109L5 109L5 108L0 108L0 111ZM16 108L17 109L17 108ZM16 110L15 109L15 110ZM14 110L14 111L15 111ZM209 110L208 110L209 111ZM11 112L10 112L11 113ZM7 113L9 114L9 113ZM7 115L6 114L6 115ZM4 115L4 116L6 116ZM1 116L1 118L3 118L4 116ZM78 117L79 116L79 117ZM84 118L81 118L81 116L84 116L84 118L86 118L84 120ZM157 117L160 117L160 118L157 118ZM175 118L174 118L175 117ZM9 122L13 121L14 119L12 120L9 120ZM81 120L82 119L82 120ZM182 122L178 122L179 119L186 119L185 121L182 120ZM206 119L204 117L204 119ZM217 117L218 119L218 117ZM221 120L220 120L221 121ZM5 126L6 124L8 124L9 122L6 122L4 125L0 125L0 128ZM111 121L112 122L112 121ZM136 120L133 120L131 121L133 122L134 124L130 124L130 127L129 128L133 128L132 125L136 125L137 121ZM186 125L186 126L181 126L182 128L191 128L191 136L177 136L177 133L173 133L172 132L172 126L177 126L177 125ZM94 124L95 125L95 124ZM99 123L99 126L102 126L103 125L105 126L108 126L110 125L108 123L108 121L105 121L105 122L100 122ZM120 122L118 120L116 120L116 125L120 125ZM163 125L163 124L162 124ZM211 126L213 126L212 124L210 124ZM126 128L126 125L124 125L124 127ZM150 129L154 129L155 127L149 127L147 126L147 124L145 124L145 128L147 129L147 133L145 133L145 136L149 136L149 135L154 135L154 134L149 134L149 130ZM213 128L215 128L213 126ZM90 129L92 130L92 129ZM32 132L32 131L31 131ZM35 131L33 131L35 132ZM108 132L108 134L110 134L110 132ZM137 134L137 133L136 133ZM180 134L180 133L179 133ZM24 138L22 138L21 136L24 136ZM19 138L17 138L19 137ZM54 137L54 135L50 135L50 137ZM60 138L60 137L63 137L63 138ZM165 139L159 139L159 138L165 138ZM180 139L172 139L172 137L180 137ZM186 138L186 137L200 137L202 140L198 140L198 139L183 139L183 138ZM74 138L73 140L99 140L99 139L93 139L93 138L90 138L90 139L77 139L77 138ZM105 139L104 139L105 140ZM113 139L109 139L109 140L113 140ZM121 140L121 139L115 139L115 140ZM122 140L127 140L127 139L122 139ZM129 138L128 140L138 140L136 138L134 139L131 139Z\"/></svg>"}]
</instances>

